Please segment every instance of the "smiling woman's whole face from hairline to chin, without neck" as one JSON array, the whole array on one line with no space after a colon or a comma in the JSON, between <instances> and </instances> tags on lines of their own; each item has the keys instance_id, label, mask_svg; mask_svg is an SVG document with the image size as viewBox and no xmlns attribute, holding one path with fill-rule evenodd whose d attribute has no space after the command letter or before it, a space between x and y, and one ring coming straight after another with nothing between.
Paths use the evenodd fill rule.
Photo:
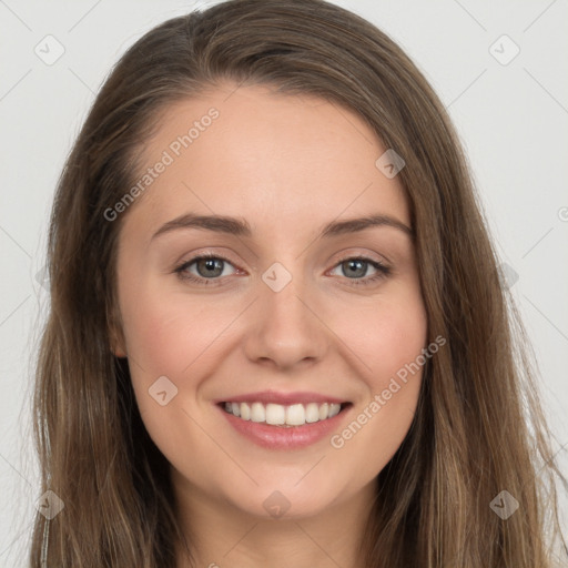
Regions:
<instances>
[{"instance_id":1,"label":"smiling woman's whole face from hairline to chin, without neck","mask_svg":"<svg viewBox=\"0 0 568 568\"><path fill-rule=\"evenodd\" d=\"M295 518L374 490L417 405L422 368L400 369L427 341L408 203L375 165L386 148L346 109L261 87L160 124L115 209L114 348L176 486ZM371 216L389 221L347 223Z\"/></svg>"}]
</instances>

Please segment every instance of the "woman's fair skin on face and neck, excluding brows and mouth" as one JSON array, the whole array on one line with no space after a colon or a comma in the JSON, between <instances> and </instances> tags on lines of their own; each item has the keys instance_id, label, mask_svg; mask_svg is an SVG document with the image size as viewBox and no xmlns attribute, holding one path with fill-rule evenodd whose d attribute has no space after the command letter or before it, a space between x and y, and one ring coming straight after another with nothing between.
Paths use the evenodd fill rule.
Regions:
<instances>
[{"instance_id":1,"label":"woman's fair skin on face and neck, excluding brows and mouth","mask_svg":"<svg viewBox=\"0 0 568 568\"><path fill-rule=\"evenodd\" d=\"M328 437L302 449L258 447L213 400L265 389L336 396L354 405L341 433L416 359L427 317L408 235L374 226L318 236L328 222L371 213L410 226L408 203L398 179L376 168L386 149L357 114L266 87L225 84L169 106L144 163L212 106L219 118L123 213L123 339L113 348L129 357L142 418L171 464L196 566L355 567L374 480L408 432L422 369L341 449ZM242 217L253 234L180 229L152 239L190 212ZM174 272L207 251L230 261L209 278L216 286ZM392 274L354 285L379 274L363 264L353 276L343 261L357 256ZM262 280L275 262L292 275L280 292ZM206 281L206 270L194 263L186 273ZM178 388L165 406L149 395L161 376ZM290 503L280 518L263 507L275 490ZM179 567L189 567L179 550Z\"/></svg>"}]
</instances>

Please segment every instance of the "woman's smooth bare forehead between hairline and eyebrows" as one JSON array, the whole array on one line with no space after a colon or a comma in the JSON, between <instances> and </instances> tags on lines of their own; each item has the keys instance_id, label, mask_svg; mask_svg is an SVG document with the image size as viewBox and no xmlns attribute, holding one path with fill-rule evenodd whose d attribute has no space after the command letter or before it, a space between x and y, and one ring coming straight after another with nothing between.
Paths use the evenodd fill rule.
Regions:
<instances>
[{"instance_id":1,"label":"woman's smooth bare forehead between hairline and eyebrows","mask_svg":"<svg viewBox=\"0 0 568 568\"><path fill-rule=\"evenodd\" d=\"M155 226L196 211L255 225L277 220L284 230L373 211L409 225L402 185L375 164L385 150L357 113L334 102L226 85L163 110L139 179L166 165L129 217Z\"/></svg>"}]
</instances>

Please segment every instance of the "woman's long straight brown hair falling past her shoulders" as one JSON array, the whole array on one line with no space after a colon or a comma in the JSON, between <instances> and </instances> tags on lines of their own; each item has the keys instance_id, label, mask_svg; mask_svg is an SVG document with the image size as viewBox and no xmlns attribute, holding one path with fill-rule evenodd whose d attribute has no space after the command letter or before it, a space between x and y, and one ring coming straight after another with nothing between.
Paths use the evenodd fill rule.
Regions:
<instances>
[{"instance_id":1,"label":"woman's long straight brown hair falling past her shoulders","mask_svg":"<svg viewBox=\"0 0 568 568\"><path fill-rule=\"evenodd\" d=\"M447 345L428 361L412 428L378 475L362 535L365 568L552 566L561 476L459 141L408 57L322 0L231 0L169 20L126 51L98 94L60 178L49 233L34 436L41 490L64 509L51 520L37 515L31 566L41 568L42 545L50 567L175 566L183 535L169 464L143 426L128 363L111 351L128 212L112 222L104 212L135 183L160 113L221 81L352 109L406 162L398 175L428 335ZM507 519L490 507L504 490L519 503Z\"/></svg>"}]
</instances>

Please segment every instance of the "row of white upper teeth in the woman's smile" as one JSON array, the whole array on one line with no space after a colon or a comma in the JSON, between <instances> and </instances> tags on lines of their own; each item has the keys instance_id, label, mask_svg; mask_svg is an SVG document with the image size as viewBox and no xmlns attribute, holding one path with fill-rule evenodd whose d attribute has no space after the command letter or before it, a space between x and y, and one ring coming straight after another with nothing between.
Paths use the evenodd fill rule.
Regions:
<instances>
[{"instance_id":1,"label":"row of white upper teeth in the woman's smile","mask_svg":"<svg viewBox=\"0 0 568 568\"><path fill-rule=\"evenodd\" d=\"M333 418L339 414L341 405L335 403L310 403L283 406L262 403L225 403L225 410L243 420L266 423L274 426L303 426Z\"/></svg>"}]
</instances>

